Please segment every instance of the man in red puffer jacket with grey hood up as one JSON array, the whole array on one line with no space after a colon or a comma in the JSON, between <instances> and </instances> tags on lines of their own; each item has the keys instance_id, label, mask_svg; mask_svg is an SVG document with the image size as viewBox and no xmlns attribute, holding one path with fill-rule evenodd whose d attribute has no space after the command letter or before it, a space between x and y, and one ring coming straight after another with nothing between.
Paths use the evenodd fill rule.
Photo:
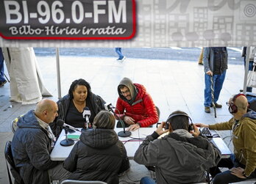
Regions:
<instances>
[{"instance_id":1,"label":"man in red puffer jacket with grey hood up","mask_svg":"<svg viewBox=\"0 0 256 184\"><path fill-rule=\"evenodd\" d=\"M158 121L157 108L143 85L123 78L118 85L118 95L115 114L129 125L127 130L149 127Z\"/></svg>"}]
</instances>

